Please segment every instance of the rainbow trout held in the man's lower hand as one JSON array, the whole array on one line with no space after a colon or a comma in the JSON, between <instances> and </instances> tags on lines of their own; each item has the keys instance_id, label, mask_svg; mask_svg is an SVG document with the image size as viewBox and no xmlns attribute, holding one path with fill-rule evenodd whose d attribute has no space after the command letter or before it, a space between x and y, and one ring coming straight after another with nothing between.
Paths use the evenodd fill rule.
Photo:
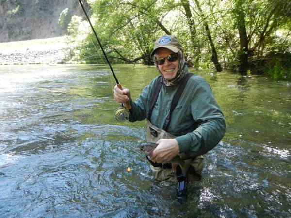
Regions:
<instances>
[{"instance_id":1,"label":"rainbow trout held in the man's lower hand","mask_svg":"<svg viewBox=\"0 0 291 218\"><path fill-rule=\"evenodd\" d=\"M156 143L141 143L139 144L139 149L146 154L146 156L151 160L153 151L159 144ZM172 170L176 171L177 164L180 166L184 176L187 176L186 163L181 156L177 155L172 160L169 161L172 164Z\"/></svg>"}]
</instances>

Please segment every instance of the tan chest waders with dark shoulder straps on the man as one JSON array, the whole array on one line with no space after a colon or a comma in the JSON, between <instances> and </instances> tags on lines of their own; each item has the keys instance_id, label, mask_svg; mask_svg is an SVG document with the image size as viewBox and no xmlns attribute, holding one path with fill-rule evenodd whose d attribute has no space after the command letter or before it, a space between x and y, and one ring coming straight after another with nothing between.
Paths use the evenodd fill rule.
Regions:
<instances>
[{"instance_id":1,"label":"tan chest waders with dark shoulder straps on the man","mask_svg":"<svg viewBox=\"0 0 291 218\"><path fill-rule=\"evenodd\" d=\"M178 104L178 101L180 99L180 96L182 95L184 88L187 84L187 81L190 77L192 77L193 74L188 73L185 75L185 77L181 81L181 85L178 88L177 92L175 93L172 102L171 102L171 108L170 112L166 117L166 120L163 124L163 129L160 129L154 125L151 124L150 118L152 114L152 110L157 102L161 87L162 87L162 76L158 79L157 86L155 88L154 95L152 97L151 106L149 109L148 117L147 117L147 129L146 129L146 141L150 143L156 143L160 139L174 139L177 136L174 136L170 133L168 133L167 127L170 123L171 113L175 109L175 107ZM184 160L185 164L184 166L181 166L180 164L170 162L166 164L162 163L154 163L152 162L147 156L148 161L151 163L150 168L153 171L153 176L155 179L159 181L173 181L178 182L178 188L177 188L177 197L181 198L186 195L187 191L187 172L190 166L193 166L196 170L199 166L199 171L202 170L202 160L203 156L198 156L196 158L187 156L185 153L180 153L178 156L181 157L181 159Z\"/></svg>"}]
</instances>

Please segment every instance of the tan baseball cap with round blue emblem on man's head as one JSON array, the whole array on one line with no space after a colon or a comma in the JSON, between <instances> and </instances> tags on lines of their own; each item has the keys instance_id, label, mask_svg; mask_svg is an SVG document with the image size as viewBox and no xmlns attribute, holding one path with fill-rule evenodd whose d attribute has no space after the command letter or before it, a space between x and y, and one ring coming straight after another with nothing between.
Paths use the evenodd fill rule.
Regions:
<instances>
[{"instance_id":1,"label":"tan baseball cap with round blue emblem on man's head","mask_svg":"<svg viewBox=\"0 0 291 218\"><path fill-rule=\"evenodd\" d=\"M164 35L157 39L154 44L154 50L152 51L151 56L153 56L157 49L161 47L168 48L175 53L177 53L179 50L183 51L183 47L180 44L178 38L173 35Z\"/></svg>"}]
</instances>

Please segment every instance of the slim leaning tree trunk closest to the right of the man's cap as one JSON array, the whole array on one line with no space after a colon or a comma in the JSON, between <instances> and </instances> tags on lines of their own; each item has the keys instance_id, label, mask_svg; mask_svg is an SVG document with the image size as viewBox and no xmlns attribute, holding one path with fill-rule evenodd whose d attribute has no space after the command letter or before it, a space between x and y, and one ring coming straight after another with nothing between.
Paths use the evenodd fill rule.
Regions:
<instances>
[{"instance_id":1,"label":"slim leaning tree trunk closest to the right of the man's cap","mask_svg":"<svg viewBox=\"0 0 291 218\"><path fill-rule=\"evenodd\" d=\"M199 42L196 40L198 38L196 36L197 31L194 26L194 21L193 21L191 9L190 9L189 0L181 0L181 3L182 3L182 6L184 7L186 17L187 17L187 23L188 23L190 33L191 33L191 43L194 48L194 56L195 56L194 66L198 68L199 61L201 58L201 50L200 50Z\"/></svg>"}]
</instances>

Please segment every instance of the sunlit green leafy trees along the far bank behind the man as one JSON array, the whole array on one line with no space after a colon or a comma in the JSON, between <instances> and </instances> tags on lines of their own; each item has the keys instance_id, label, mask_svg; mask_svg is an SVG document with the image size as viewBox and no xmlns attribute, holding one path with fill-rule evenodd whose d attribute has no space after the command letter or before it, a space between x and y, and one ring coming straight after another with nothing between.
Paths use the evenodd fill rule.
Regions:
<instances>
[{"instance_id":1,"label":"sunlit green leafy trees along the far bank behind the man","mask_svg":"<svg viewBox=\"0 0 291 218\"><path fill-rule=\"evenodd\" d=\"M180 39L190 66L214 68L214 50L224 69L244 67L253 73L266 72L267 59L275 59L273 65L269 63L280 64L283 75L288 72L285 69L291 68L290 62L282 62L282 57L291 53L289 0L90 0L88 3L97 35L114 63L152 64L150 53L154 41L172 34ZM76 41L78 36L72 37ZM83 40L77 40L81 45L79 54L84 55L81 58L92 54L102 57L92 31ZM278 54L280 59L276 58Z\"/></svg>"}]
</instances>

